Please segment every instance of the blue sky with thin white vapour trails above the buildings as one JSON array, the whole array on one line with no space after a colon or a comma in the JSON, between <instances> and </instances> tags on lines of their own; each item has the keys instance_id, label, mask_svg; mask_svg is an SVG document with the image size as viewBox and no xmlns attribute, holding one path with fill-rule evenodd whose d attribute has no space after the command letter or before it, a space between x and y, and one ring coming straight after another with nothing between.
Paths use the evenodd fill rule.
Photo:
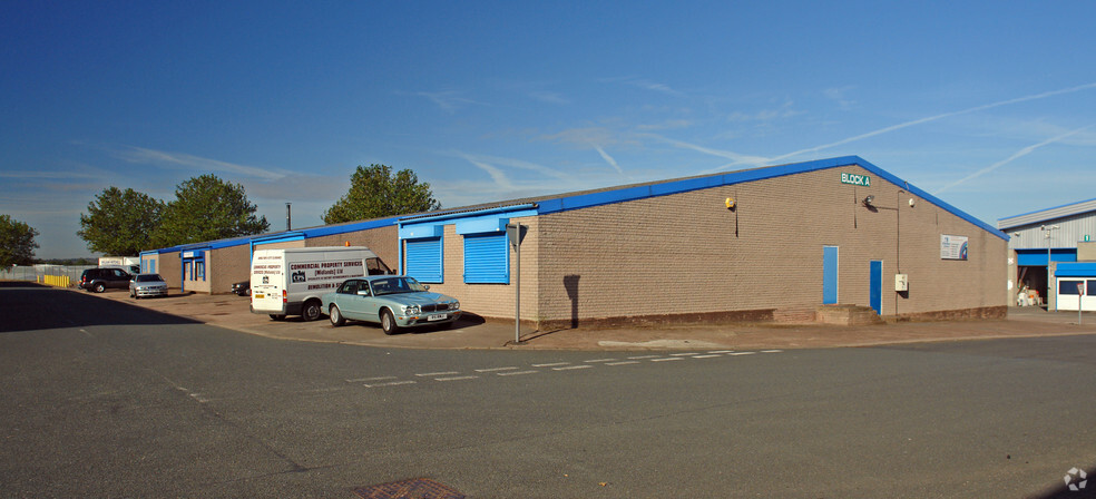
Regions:
<instances>
[{"instance_id":1,"label":"blue sky with thin white vapour trails above the buildings","mask_svg":"<svg viewBox=\"0 0 1096 499\"><path fill-rule=\"evenodd\" d=\"M458 207L844 155L990 224L1096 197L1096 2L942 3L12 2L0 214L76 257L206 173L282 229L373 163Z\"/></svg>"}]
</instances>

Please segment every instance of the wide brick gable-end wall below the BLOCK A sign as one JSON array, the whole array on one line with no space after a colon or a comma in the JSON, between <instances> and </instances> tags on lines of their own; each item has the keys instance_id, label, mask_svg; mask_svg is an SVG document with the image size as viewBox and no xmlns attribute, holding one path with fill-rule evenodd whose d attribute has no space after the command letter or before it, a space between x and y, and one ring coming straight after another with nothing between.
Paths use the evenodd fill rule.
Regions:
<instances>
[{"instance_id":1,"label":"wide brick gable-end wall below the BLOCK A sign","mask_svg":"<svg viewBox=\"0 0 1096 499\"><path fill-rule=\"evenodd\" d=\"M867 306L869 261L883 263L882 315L1005 305L1006 242L901 186L840 183L844 166L571 212L539 219L538 319L567 323L712 316L822 303L822 247L839 246L839 303ZM875 209L864 196L875 197ZM736 199L732 212L726 197ZM968 261L940 258L940 235L968 236ZM910 291L893 291L896 273ZM767 311L767 312L766 312ZM597 321L593 321L597 322Z\"/></svg>"}]
</instances>

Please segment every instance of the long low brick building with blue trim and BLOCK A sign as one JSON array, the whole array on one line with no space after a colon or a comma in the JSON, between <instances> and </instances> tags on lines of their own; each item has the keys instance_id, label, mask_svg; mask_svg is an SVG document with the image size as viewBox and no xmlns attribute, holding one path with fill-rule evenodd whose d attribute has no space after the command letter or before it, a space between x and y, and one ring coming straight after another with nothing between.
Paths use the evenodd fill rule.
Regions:
<instances>
[{"instance_id":1,"label":"long low brick building with blue trim and BLOCK A sign","mask_svg":"<svg viewBox=\"0 0 1096 499\"><path fill-rule=\"evenodd\" d=\"M222 293L257 246L364 245L473 314L512 319L520 292L522 322L541 330L857 307L1002 317L1007 239L849 156L164 248L141 265Z\"/></svg>"}]
</instances>

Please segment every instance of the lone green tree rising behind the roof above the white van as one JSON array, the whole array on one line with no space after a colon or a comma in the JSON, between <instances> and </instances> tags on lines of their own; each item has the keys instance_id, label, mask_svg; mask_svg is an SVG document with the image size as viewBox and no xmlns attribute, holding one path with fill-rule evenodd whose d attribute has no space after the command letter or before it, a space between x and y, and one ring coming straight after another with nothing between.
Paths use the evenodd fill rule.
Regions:
<instances>
[{"instance_id":1,"label":"lone green tree rising behind the roof above the white van","mask_svg":"<svg viewBox=\"0 0 1096 499\"><path fill-rule=\"evenodd\" d=\"M359 166L350 178L350 192L323 214L323 222L337 224L441 208L430 184L419 183L410 169L394 176L385 165Z\"/></svg>"}]
</instances>

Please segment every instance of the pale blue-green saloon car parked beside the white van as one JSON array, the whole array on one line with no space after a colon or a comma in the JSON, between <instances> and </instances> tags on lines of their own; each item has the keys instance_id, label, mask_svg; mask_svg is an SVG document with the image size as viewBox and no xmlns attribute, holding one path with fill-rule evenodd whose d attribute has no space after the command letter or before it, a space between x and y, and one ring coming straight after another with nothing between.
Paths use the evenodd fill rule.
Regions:
<instances>
[{"instance_id":1,"label":"pale blue-green saloon car parked beside the white van","mask_svg":"<svg viewBox=\"0 0 1096 499\"><path fill-rule=\"evenodd\" d=\"M334 326L348 320L373 322L381 324L384 334L401 327L451 326L460 317L460 302L429 290L402 275L351 278L322 296L323 310Z\"/></svg>"}]
</instances>

